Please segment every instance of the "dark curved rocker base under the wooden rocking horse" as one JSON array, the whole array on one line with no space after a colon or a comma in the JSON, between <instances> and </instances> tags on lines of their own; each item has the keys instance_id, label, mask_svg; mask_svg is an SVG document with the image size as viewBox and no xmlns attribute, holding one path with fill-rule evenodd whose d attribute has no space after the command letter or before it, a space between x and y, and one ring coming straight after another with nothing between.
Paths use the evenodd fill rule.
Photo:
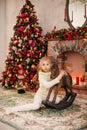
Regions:
<instances>
[{"instance_id":1,"label":"dark curved rocker base under the wooden rocking horse","mask_svg":"<svg viewBox=\"0 0 87 130\"><path fill-rule=\"evenodd\" d=\"M63 109L70 107L73 104L73 102L76 98L76 95L77 95L76 93L66 94L65 97L57 104L50 102L50 101L43 101L43 104L47 108L63 110Z\"/></svg>"}]
</instances>

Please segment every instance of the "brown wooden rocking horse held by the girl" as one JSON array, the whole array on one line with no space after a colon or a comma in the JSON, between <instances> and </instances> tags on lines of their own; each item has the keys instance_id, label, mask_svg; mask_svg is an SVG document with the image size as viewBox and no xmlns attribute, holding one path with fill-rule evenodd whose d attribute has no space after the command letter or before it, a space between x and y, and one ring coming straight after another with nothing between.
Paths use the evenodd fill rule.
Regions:
<instances>
[{"instance_id":1,"label":"brown wooden rocking horse held by the girl","mask_svg":"<svg viewBox=\"0 0 87 130\"><path fill-rule=\"evenodd\" d=\"M51 78L52 79L55 78L59 74L59 71L61 69L64 69L65 60L66 60L66 57L64 54L59 55L57 57L57 62L53 63L53 66L51 68ZM54 60L52 62L54 62ZM59 70L59 71L57 71L57 70ZM55 101L56 101L56 97L57 97L60 87L64 88L66 95L59 103L56 104ZM53 97L53 101L50 102L49 98L50 98L52 91L54 91L54 97ZM76 93L72 92L72 77L69 73L67 73L67 75L64 75L62 77L59 84L50 88L46 101L43 101L43 104L48 108L62 110L62 109L65 109L72 105L73 101L75 100L76 95L77 95Z\"/></svg>"}]
</instances>

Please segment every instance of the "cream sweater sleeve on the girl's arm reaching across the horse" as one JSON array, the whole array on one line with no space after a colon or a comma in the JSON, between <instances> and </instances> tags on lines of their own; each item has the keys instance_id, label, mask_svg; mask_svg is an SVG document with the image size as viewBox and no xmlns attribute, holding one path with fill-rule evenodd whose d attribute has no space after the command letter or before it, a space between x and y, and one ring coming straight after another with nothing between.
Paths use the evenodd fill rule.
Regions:
<instances>
[{"instance_id":1,"label":"cream sweater sleeve on the girl's arm reaching across the horse","mask_svg":"<svg viewBox=\"0 0 87 130\"><path fill-rule=\"evenodd\" d=\"M60 81L58 80L58 77L51 81L47 81L46 77L44 78L43 75L39 75L39 83L40 83L40 85L42 85L45 88L51 88L52 86L54 86L55 84L57 84L59 82Z\"/></svg>"}]
</instances>

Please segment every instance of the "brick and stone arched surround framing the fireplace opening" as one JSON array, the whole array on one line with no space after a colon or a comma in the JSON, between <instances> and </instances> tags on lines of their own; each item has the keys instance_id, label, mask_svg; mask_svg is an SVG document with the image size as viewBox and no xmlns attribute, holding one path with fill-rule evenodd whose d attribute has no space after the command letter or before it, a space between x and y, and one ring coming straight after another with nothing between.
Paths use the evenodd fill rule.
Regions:
<instances>
[{"instance_id":1,"label":"brick and stone arched surround framing the fireplace opening","mask_svg":"<svg viewBox=\"0 0 87 130\"><path fill-rule=\"evenodd\" d=\"M83 88L87 91L87 39L76 39L70 41L52 39L48 41L48 56L56 58L58 55L67 52L80 54L84 58L85 85L83 85ZM82 88L82 86L79 86L79 88Z\"/></svg>"}]
</instances>

